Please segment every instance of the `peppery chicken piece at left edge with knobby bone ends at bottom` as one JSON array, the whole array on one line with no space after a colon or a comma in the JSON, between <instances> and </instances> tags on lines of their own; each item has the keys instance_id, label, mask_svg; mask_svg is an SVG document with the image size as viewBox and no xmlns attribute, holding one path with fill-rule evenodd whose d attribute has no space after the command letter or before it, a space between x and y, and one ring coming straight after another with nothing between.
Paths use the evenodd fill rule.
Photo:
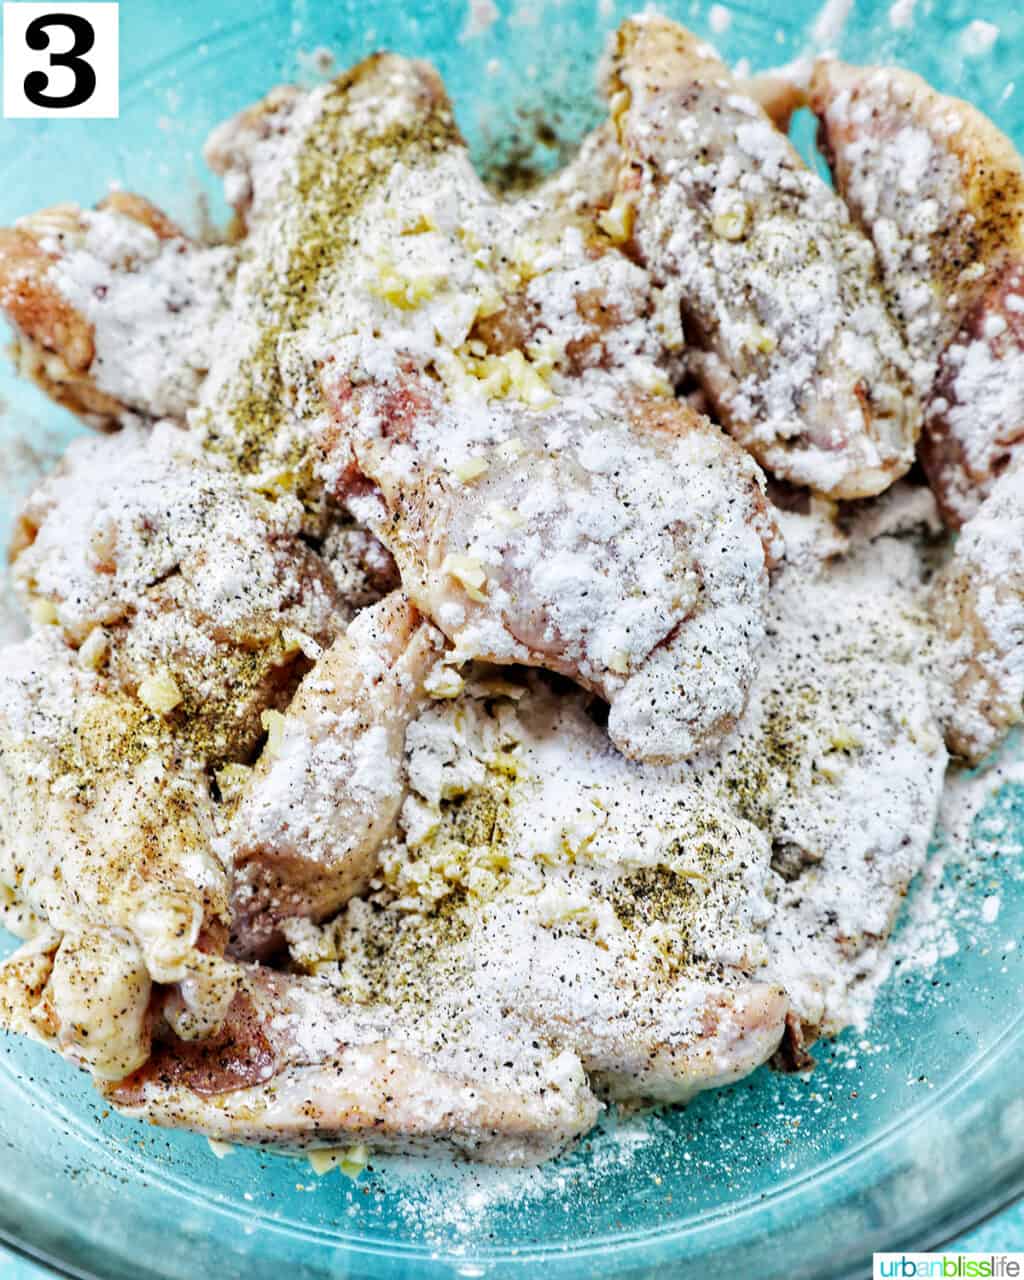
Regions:
<instances>
[{"instance_id":1,"label":"peppery chicken piece at left edge with knobby bone ends at bottom","mask_svg":"<svg viewBox=\"0 0 1024 1280\"><path fill-rule=\"evenodd\" d=\"M77 662L56 628L0 664L0 881L52 934L29 942L40 1034L102 1076L145 1059L151 982L180 983L183 1034L216 1025L229 886L202 762ZM27 1015L26 1015L27 1016Z\"/></svg>"}]
</instances>

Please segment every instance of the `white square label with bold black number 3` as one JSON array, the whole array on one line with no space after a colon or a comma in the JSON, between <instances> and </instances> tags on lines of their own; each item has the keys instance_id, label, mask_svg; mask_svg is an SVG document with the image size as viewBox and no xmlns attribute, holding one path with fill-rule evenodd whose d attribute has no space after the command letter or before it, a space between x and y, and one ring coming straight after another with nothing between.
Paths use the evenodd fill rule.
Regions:
<instances>
[{"instance_id":1,"label":"white square label with bold black number 3","mask_svg":"<svg viewBox=\"0 0 1024 1280\"><path fill-rule=\"evenodd\" d=\"M4 4L5 118L116 114L116 4Z\"/></svg>"}]
</instances>

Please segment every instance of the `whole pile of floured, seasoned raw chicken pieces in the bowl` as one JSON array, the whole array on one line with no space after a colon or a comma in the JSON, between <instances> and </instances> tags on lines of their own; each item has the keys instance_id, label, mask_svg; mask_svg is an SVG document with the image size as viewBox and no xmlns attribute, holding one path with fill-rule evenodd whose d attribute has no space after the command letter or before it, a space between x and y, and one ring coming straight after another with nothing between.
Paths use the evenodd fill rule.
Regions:
<instances>
[{"instance_id":1,"label":"whole pile of floured, seasoned raw chicken pieces in the bowl","mask_svg":"<svg viewBox=\"0 0 1024 1280\"><path fill-rule=\"evenodd\" d=\"M854 221L801 91L646 17L515 200L375 55L211 138L230 248L0 233L26 366L123 428L12 548L0 1028L155 1124L525 1165L863 1016L943 733L1024 714L1016 160L886 74L815 77ZM1007 468L955 548L923 394L947 513Z\"/></svg>"}]
</instances>

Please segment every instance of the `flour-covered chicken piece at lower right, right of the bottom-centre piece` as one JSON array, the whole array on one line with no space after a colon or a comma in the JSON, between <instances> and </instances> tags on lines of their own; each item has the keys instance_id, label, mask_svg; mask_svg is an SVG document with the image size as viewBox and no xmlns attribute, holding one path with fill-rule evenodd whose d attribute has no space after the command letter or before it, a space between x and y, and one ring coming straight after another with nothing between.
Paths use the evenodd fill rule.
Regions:
<instances>
[{"instance_id":1,"label":"flour-covered chicken piece at lower right, right of the bottom-centre piece","mask_svg":"<svg viewBox=\"0 0 1024 1280\"><path fill-rule=\"evenodd\" d=\"M820 544L819 520L796 518ZM782 570L746 714L705 762L772 842L768 973L792 1004L797 1065L812 1039L859 1020L887 972L946 768L927 563L915 536L860 536L842 559Z\"/></svg>"}]
</instances>

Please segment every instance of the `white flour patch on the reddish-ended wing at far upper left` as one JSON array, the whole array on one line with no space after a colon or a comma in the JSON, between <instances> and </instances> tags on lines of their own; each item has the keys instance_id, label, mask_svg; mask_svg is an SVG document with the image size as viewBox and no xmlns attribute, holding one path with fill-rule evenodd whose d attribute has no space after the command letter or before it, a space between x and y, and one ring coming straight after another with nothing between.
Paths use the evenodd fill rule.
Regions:
<instances>
[{"instance_id":1,"label":"white flour patch on the reddish-ended wing at far upper left","mask_svg":"<svg viewBox=\"0 0 1024 1280\"><path fill-rule=\"evenodd\" d=\"M108 210L44 247L51 279L92 326L90 375L127 408L183 419L224 338L234 250L197 248Z\"/></svg>"}]
</instances>

